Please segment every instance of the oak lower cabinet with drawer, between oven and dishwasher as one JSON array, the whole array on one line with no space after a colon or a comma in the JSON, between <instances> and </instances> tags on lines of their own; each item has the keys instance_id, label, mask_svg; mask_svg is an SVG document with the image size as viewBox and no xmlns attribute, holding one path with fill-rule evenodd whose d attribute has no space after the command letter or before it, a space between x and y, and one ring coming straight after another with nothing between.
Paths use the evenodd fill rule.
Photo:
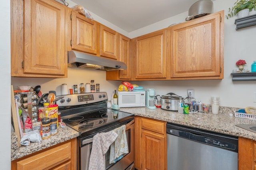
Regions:
<instances>
[{"instance_id":1,"label":"oak lower cabinet with drawer, between oven and dishwasher","mask_svg":"<svg viewBox=\"0 0 256 170\"><path fill-rule=\"evenodd\" d=\"M166 122L135 117L135 168L167 169Z\"/></svg>"}]
</instances>

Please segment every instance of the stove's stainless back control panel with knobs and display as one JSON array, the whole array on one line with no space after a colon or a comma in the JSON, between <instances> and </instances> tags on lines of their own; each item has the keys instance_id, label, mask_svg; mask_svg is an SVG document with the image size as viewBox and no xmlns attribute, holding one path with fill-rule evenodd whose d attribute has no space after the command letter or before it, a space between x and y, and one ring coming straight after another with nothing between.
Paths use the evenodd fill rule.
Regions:
<instances>
[{"instance_id":1,"label":"stove's stainless back control panel with knobs and display","mask_svg":"<svg viewBox=\"0 0 256 170\"><path fill-rule=\"evenodd\" d=\"M62 107L84 105L84 104L90 104L90 103L96 103L96 102L108 100L108 96L106 92L81 93L81 94L63 95L63 96L57 96L57 97L63 97L62 99L56 101L56 104Z\"/></svg>"}]
</instances>

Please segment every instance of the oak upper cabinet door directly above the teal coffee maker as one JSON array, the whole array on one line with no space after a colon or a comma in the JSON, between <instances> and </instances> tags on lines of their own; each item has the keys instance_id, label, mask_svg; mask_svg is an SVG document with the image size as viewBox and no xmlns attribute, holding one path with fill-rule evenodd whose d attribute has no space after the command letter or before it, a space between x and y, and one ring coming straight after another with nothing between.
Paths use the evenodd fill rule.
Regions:
<instances>
[{"instance_id":1,"label":"oak upper cabinet door directly above the teal coffee maker","mask_svg":"<svg viewBox=\"0 0 256 170\"><path fill-rule=\"evenodd\" d=\"M135 79L166 78L166 30L135 39Z\"/></svg>"}]
</instances>

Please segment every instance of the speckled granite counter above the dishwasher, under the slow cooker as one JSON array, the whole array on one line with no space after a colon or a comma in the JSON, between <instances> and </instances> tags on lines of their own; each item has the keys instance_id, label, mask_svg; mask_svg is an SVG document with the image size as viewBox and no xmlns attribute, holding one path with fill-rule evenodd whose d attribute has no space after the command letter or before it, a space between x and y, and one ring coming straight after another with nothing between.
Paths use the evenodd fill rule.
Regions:
<instances>
[{"instance_id":1,"label":"speckled granite counter above the dishwasher, under the slow cooker","mask_svg":"<svg viewBox=\"0 0 256 170\"><path fill-rule=\"evenodd\" d=\"M121 108L120 111L134 113L135 116L148 117L179 125L186 125L189 127L196 127L256 140L256 133L235 126L238 124L256 124L256 121L250 119L234 117L233 111L237 111L238 109L240 108L220 107L218 115L213 115L211 113L190 113L189 115L185 115L178 112L165 111L160 108L148 109L147 107ZM229 116L229 113L233 113L233 116Z\"/></svg>"}]
</instances>

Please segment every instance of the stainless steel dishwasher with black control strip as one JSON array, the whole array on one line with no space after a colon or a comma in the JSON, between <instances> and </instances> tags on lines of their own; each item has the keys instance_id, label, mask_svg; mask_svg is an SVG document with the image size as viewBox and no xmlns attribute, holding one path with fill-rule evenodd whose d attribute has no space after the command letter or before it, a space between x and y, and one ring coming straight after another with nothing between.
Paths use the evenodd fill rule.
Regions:
<instances>
[{"instance_id":1,"label":"stainless steel dishwasher with black control strip","mask_svg":"<svg viewBox=\"0 0 256 170\"><path fill-rule=\"evenodd\" d=\"M172 123L166 128L168 170L238 169L238 137Z\"/></svg>"}]
</instances>

